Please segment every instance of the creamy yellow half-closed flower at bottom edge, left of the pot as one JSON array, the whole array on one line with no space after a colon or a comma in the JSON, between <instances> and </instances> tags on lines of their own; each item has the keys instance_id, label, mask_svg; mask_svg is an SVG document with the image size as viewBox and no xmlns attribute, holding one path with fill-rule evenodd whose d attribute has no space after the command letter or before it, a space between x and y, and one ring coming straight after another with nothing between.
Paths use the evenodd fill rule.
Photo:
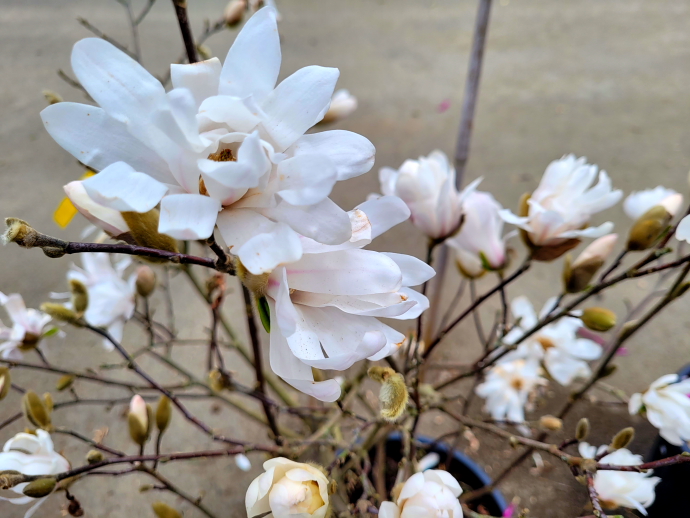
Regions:
<instances>
[{"instance_id":1,"label":"creamy yellow half-closed flower at bottom edge, left of the pot","mask_svg":"<svg viewBox=\"0 0 690 518\"><path fill-rule=\"evenodd\" d=\"M321 470L283 457L264 462L245 497L248 518L271 512L275 518L325 518L328 479Z\"/></svg>"}]
</instances>

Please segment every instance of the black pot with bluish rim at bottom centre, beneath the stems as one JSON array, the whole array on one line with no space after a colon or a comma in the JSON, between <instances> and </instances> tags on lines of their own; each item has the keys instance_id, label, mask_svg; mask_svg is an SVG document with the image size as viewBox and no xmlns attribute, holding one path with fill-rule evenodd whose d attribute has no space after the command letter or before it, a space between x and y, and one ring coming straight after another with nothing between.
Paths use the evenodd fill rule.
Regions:
<instances>
[{"instance_id":1,"label":"black pot with bluish rim at bottom centre, beneath the stems","mask_svg":"<svg viewBox=\"0 0 690 518\"><path fill-rule=\"evenodd\" d=\"M418 437L417 450L419 458L427 453L438 453L440 464L444 465L446 471L460 482L463 491L477 490L491 484L491 478L477 463L457 451L454 451L451 456L450 448L442 442L434 442L433 439L427 437ZM375 448L369 452L369 457L374 462L374 459L376 459ZM386 442L386 485L389 490L392 489L395 475L398 471L398 463L401 459L401 436L400 434L392 434ZM499 491L494 490L473 501L470 507L472 509L481 508L481 510L488 512L492 516L503 516L507 505L503 495Z\"/></svg>"}]
</instances>

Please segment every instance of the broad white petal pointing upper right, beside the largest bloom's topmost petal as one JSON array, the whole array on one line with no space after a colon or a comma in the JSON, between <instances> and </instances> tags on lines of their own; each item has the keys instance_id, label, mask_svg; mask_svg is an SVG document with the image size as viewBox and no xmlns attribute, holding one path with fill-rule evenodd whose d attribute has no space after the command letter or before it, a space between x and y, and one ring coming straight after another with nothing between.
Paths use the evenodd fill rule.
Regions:
<instances>
[{"instance_id":1,"label":"broad white petal pointing upper right, beside the largest bloom's topmost petal","mask_svg":"<svg viewBox=\"0 0 690 518\"><path fill-rule=\"evenodd\" d=\"M280 83L262 108L263 126L282 152L319 122L331 102L340 72L336 68L304 67Z\"/></svg>"}]
</instances>

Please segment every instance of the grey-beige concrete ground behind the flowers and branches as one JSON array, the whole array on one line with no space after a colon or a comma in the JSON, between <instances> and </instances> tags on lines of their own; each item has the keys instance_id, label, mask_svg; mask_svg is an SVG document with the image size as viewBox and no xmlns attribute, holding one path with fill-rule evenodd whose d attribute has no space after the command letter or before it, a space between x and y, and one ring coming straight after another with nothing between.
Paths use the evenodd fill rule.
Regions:
<instances>
[{"instance_id":1,"label":"grey-beige concrete ground behind the flowers and branches","mask_svg":"<svg viewBox=\"0 0 690 518\"><path fill-rule=\"evenodd\" d=\"M190 3L190 17L199 32L204 18L216 19L223 0ZM515 207L519 196L533 189L544 168L565 153L586 155L612 176L626 192L663 184L687 192L690 168L690 34L687 20L690 2L679 0L496 0L488 39L486 65L472 141L468 179L483 176L482 188L505 206ZM378 190L379 167L398 166L404 159L427 154L434 148L452 152L460 111L476 2L469 0L279 0L283 14L283 75L298 67L321 64L340 68L340 87L360 101L360 109L340 127L366 135L377 148L375 170L338 186L335 199L350 208ZM56 69L69 71L69 52L88 32L75 21L87 18L109 35L126 41L127 26L122 8L112 0L4 0L0 11L0 190L1 215L18 216L36 227L64 238L78 238L81 221L59 230L52 213L62 198L61 186L81 174L74 159L63 152L43 130L38 113L45 106L41 90L58 91L67 100L82 96L65 85ZM169 2L159 1L141 26L144 64L162 74L181 50L178 29ZM223 57L233 32L214 37L208 45ZM443 110L441 106L447 106ZM620 206L606 214L625 234L629 222ZM603 221L598 218L598 221ZM376 243L378 250L422 256L424 240L409 224L401 225ZM516 243L519 248L520 245ZM523 253L522 251L520 253ZM49 260L40 252L17 247L0 250L0 290L20 292L29 305L46 300L50 291L65 289L64 273L70 258ZM509 289L509 296L525 294L540 306L558 289L560 265L532 272ZM457 278L450 275L448 298ZM181 295L176 298L177 326L183 334L201 336L208 323L206 309L183 279L173 281ZM492 280L484 281L489 286ZM647 280L630 281L598 303L622 313L624 301L639 300L650 286ZM486 289L486 288L484 288ZM235 295L236 297L236 295ZM157 302L159 314L162 311ZM228 315L237 301L226 304ZM658 376L673 372L690 358L687 339L688 310L681 300L656 318L628 344L629 354L616 360L619 371L612 384L633 392ZM491 310L484 315L489 320ZM241 327L238 321L238 327ZM438 360L468 362L478 354L470 322L461 326L439 352ZM141 337L128 334L128 344ZM112 362L97 340L70 332L68 338L47 345L51 361L63 365L97 366ZM183 348L175 356L189 365L203 364L204 353ZM233 364L234 365L234 364ZM146 364L147 368L157 368ZM240 363L237 368L240 369ZM19 385L39 392L54 381L36 379L35 373L17 372ZM156 371L154 371L156 372ZM240 376L244 373L240 372ZM80 385L82 397L114 397L102 388ZM86 391L89 391L88 393ZM126 394L124 394L126 395ZM551 395L552 396L552 395ZM58 396L61 398L62 396ZM547 398L537 413L548 411ZM257 428L227 408L209 403L191 405L201 417L227 433L251 437ZM0 421L18 409L15 396L0 403ZM586 405L573 412L566 430L585 413ZM86 435L110 426L108 442L127 447L126 426L119 418L123 407L110 415L100 410L70 409L59 414ZM475 409L477 412L479 407ZM218 413L220 412L220 413ZM654 433L648 425L631 419L624 409L595 406L592 442L604 443L629 423L638 425L633 449L644 453ZM56 417L58 420L58 417ZM207 444L186 423L179 422L166 438L170 450L189 450ZM22 428L15 425L0 432L5 441ZM450 430L450 423L430 416L423 423L428 434ZM58 436L56 446L73 463L82 462L86 448ZM462 443L461 449L467 449ZM491 440L483 440L470 452L489 474L496 474L514 452ZM165 473L191 494L205 494L204 502L222 515L243 516L245 489L258 473L240 472L231 460L195 461L185 469L167 467ZM529 507L530 516L569 518L583 511L586 496L570 474L547 459L542 473L526 464L508 478L504 493ZM75 487L87 516L151 516L149 504L160 495L140 495L139 475L98 478ZM197 516L190 506L169 502ZM38 513L59 516L62 501L54 498ZM2 516L23 516L24 509L0 504Z\"/></svg>"}]
</instances>

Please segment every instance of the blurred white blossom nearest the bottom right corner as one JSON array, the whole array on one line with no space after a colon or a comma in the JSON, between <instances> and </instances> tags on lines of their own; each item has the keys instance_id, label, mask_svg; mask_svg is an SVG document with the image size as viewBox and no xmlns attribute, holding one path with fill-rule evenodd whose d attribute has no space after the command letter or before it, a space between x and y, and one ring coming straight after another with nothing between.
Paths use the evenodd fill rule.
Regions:
<instances>
[{"instance_id":1,"label":"blurred white blossom nearest the bottom right corner","mask_svg":"<svg viewBox=\"0 0 690 518\"><path fill-rule=\"evenodd\" d=\"M582 442L578 448L582 457L593 459L603 454L608 446L603 445L597 449ZM621 448L609 453L599 462L613 466L637 466L642 464L642 456ZM599 495L601 505L605 509L630 507L647 516L645 508L654 503L654 488L661 481L659 477L652 477L652 473L652 470L646 473L598 470L594 475L594 489Z\"/></svg>"}]
</instances>

